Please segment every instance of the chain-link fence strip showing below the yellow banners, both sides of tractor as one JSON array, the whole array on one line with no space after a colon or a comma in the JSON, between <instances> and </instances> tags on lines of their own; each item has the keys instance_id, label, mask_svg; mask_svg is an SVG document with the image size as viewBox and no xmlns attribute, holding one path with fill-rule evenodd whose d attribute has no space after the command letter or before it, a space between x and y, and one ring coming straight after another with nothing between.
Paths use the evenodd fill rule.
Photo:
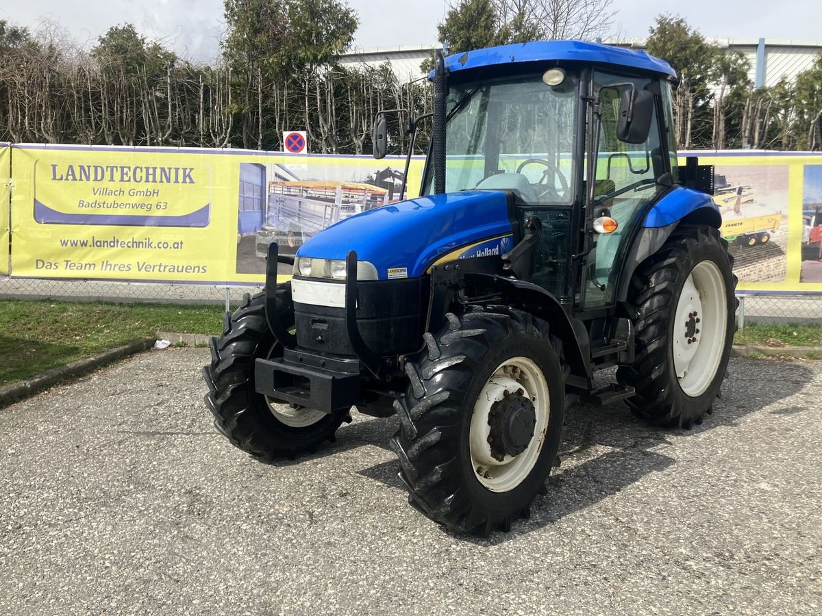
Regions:
<instances>
[{"instance_id":1,"label":"chain-link fence strip showing below the yellow banners, both sides of tractor","mask_svg":"<svg viewBox=\"0 0 822 616\"><path fill-rule=\"evenodd\" d=\"M179 304L236 305L243 293L261 286L159 284L100 280L42 280L0 278L0 299L53 299L66 301L157 301ZM740 328L749 324L822 324L822 293L739 294Z\"/></svg>"}]
</instances>

